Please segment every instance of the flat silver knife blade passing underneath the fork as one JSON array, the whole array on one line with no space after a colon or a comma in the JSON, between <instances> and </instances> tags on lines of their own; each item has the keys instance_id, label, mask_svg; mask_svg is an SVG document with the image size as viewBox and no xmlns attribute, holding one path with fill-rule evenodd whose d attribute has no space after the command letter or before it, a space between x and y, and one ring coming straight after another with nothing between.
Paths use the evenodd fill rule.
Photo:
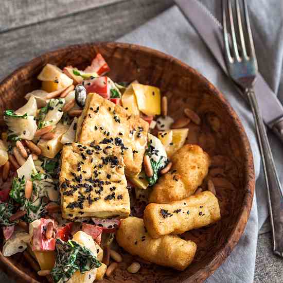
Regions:
<instances>
[{"instance_id":1,"label":"flat silver knife blade passing underneath the fork","mask_svg":"<svg viewBox=\"0 0 283 283\"><path fill-rule=\"evenodd\" d=\"M224 41L221 23L198 0L174 0L181 12L191 25L197 30L199 36L209 48L227 76L227 68L223 56ZM237 91L242 95L237 85ZM259 108L266 125L280 138L283 143L283 106L272 92L262 75L258 73L255 82L255 93ZM272 111L271 111L272 110Z\"/></svg>"}]
</instances>

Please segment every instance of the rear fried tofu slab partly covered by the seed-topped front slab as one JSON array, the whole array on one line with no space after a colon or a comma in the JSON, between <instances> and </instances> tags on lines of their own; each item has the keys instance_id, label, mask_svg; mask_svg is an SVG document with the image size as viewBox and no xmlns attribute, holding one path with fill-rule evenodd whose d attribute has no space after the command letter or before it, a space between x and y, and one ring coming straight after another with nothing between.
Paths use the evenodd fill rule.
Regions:
<instances>
[{"instance_id":1,"label":"rear fried tofu slab partly covered by the seed-topped front slab","mask_svg":"<svg viewBox=\"0 0 283 283\"><path fill-rule=\"evenodd\" d=\"M81 144L103 141L120 146L126 175L133 176L141 171L148 128L148 122L139 116L96 93L90 93L78 120L76 140Z\"/></svg>"}]
</instances>

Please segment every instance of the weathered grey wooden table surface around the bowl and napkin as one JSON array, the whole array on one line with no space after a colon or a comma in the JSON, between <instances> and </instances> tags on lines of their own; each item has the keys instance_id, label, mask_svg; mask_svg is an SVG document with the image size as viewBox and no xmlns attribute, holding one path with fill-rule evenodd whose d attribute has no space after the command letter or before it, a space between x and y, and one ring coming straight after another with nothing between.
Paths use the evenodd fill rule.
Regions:
<instances>
[{"instance_id":1,"label":"weathered grey wooden table surface around the bowl and napkin","mask_svg":"<svg viewBox=\"0 0 283 283\"><path fill-rule=\"evenodd\" d=\"M83 4L82 4L83 3ZM1 0L0 81L43 52L113 41L173 5L173 0ZM254 282L282 282L271 235L259 235ZM1 282L9 282L0 275Z\"/></svg>"}]
</instances>

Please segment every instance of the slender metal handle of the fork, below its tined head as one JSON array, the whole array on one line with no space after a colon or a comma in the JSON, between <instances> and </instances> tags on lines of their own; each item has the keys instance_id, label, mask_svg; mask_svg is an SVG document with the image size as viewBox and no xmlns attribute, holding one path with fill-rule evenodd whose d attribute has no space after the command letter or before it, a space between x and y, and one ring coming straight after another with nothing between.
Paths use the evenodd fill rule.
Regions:
<instances>
[{"instance_id":1,"label":"slender metal handle of the fork, below its tined head","mask_svg":"<svg viewBox=\"0 0 283 283\"><path fill-rule=\"evenodd\" d=\"M261 153L264 179L268 190L269 214L272 227L273 252L283 257L283 193L274 164L266 127L264 126L256 95L253 89L246 89L254 115L256 133ZM271 110L272 111L272 110Z\"/></svg>"}]
</instances>

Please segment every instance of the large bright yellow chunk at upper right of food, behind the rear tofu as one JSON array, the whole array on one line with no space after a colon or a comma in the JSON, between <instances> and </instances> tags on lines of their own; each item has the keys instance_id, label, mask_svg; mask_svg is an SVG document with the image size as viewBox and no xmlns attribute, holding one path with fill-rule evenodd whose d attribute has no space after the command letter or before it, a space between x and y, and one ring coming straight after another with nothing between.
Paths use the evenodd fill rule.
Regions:
<instances>
[{"instance_id":1,"label":"large bright yellow chunk at upper right of food, behind the rear tofu","mask_svg":"<svg viewBox=\"0 0 283 283\"><path fill-rule=\"evenodd\" d=\"M139 111L144 114L160 115L161 114L161 95L160 89L155 86L145 85L140 83L133 83L133 90L135 93Z\"/></svg>"}]
</instances>

